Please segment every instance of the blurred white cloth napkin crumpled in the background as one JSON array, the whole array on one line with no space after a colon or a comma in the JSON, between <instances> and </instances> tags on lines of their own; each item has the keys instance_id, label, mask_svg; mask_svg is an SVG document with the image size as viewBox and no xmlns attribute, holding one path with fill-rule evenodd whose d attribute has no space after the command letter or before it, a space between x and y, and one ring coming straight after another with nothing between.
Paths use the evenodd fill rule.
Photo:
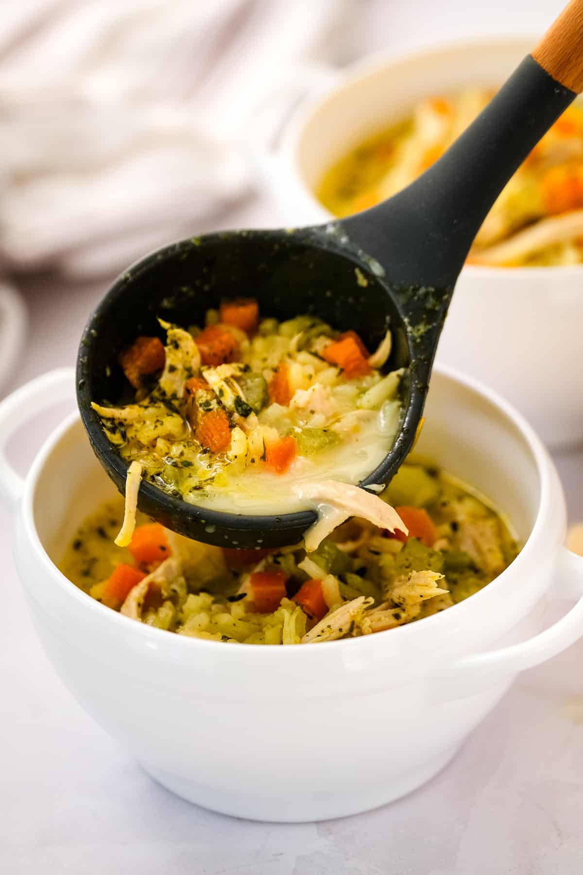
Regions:
<instances>
[{"instance_id":1,"label":"blurred white cloth napkin crumpled in the background","mask_svg":"<svg viewBox=\"0 0 583 875\"><path fill-rule=\"evenodd\" d=\"M342 51L356 2L3 0L0 264L110 274L212 228L253 107Z\"/></svg>"}]
</instances>

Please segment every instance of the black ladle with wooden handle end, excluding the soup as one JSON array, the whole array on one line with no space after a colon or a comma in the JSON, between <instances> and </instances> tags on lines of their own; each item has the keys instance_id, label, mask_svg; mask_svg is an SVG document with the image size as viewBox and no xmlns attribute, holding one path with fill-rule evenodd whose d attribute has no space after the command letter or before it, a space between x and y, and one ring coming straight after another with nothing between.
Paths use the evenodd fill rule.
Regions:
<instances>
[{"instance_id":1,"label":"black ladle with wooden handle end, excluding the soup","mask_svg":"<svg viewBox=\"0 0 583 875\"><path fill-rule=\"evenodd\" d=\"M468 130L403 192L316 228L233 231L177 242L122 274L89 318L77 362L80 415L118 489L124 492L127 465L109 444L91 402L121 396L121 349L140 334L163 337L158 317L200 324L221 297L237 296L257 297L264 315L287 319L309 312L339 329L354 328L369 348L391 327L386 367L409 368L404 414L391 451L359 485L392 479L412 447L441 328L475 234L518 165L581 88L583 0L573 0ZM476 326L476 346L489 342ZM221 546L296 543L316 520L313 511L213 511L147 482L138 503L166 527Z\"/></svg>"}]
</instances>

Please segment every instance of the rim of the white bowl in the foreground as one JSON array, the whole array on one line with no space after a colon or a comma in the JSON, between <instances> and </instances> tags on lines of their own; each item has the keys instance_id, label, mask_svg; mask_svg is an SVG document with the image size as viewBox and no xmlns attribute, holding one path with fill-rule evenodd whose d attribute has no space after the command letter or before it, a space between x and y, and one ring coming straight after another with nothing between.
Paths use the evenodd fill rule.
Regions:
<instances>
[{"instance_id":1,"label":"rim of the white bowl in the foreground","mask_svg":"<svg viewBox=\"0 0 583 875\"><path fill-rule=\"evenodd\" d=\"M509 573L517 573L520 569L520 566L525 563L528 559L527 550L529 549L529 545L538 537L542 528L546 527L546 519L545 517L550 511L550 497L552 494L552 475L553 475L553 466L552 459L546 451L544 444L536 434L536 432L532 429L531 425L526 421L524 416L520 414L516 409L512 407L512 405L507 402L502 395L498 395L495 391L484 386L480 381L475 380L473 377L468 377L465 374L460 374L455 368L448 367L445 365L436 365L434 368L434 372L436 374L441 374L445 376L448 380L454 381L455 383L462 386L462 388L469 388L470 391L474 392L477 395L481 395L482 398L485 398L486 401L493 404L497 407L506 419L510 420L517 430L521 433L522 437L526 444L528 445L531 455L535 460L538 471L538 479L539 479L539 500L538 500L538 511L537 516L534 521L534 525L531 528L531 532L529 533L526 541L524 542L524 546L521 549L520 553L516 559L510 563L507 569L503 570L502 574L498 575L491 583L485 586L482 590L475 592L470 598L466 598L464 601L459 602L457 605L454 605L448 608L447 612L436 613L430 617L425 617L419 623L406 623L403 626L395 627L393 629L387 629L384 632L377 632L371 635L362 635L357 638L346 638L340 641L327 641L321 643L320 647L324 644L327 647L335 647L338 652L340 652L341 648L370 648L377 647L378 642L382 639L379 639L379 635L391 634L399 635L400 638L405 642L407 638L410 638L413 635L421 634L420 630L423 628L427 628L427 624L431 623L434 626L436 623L443 622L442 615L444 613L449 614L451 611L456 612L456 617L460 618L462 616L462 612L468 613L468 610L471 609L472 605L477 606L476 599L483 598L491 598L491 593L494 591L498 591L503 588L505 584L506 577L508 577ZM73 423L79 422L79 413L78 411L74 411L72 414L66 417L66 419L60 423L60 425L52 431L52 434L47 438L45 444L38 451L37 456L34 458L32 462L31 468L29 470L28 476L24 481L24 491L22 495L22 514L24 521L25 534L29 541L31 542L32 548L38 555L39 560L43 565L45 565L46 570L50 574L52 581L56 584L61 591L66 594L66 598L73 598L74 601L77 601L83 610L86 610L89 613L94 613L95 616L101 617L106 622L111 622L116 625L121 624L120 628L127 630L127 634L135 635L142 638L143 641L150 641L156 643L156 646L159 648L192 648L192 652L194 652L195 648L218 648L222 647L221 641L208 641L200 638L190 638L186 635L178 635L175 633L170 633L165 629L156 629L155 627L147 626L144 623L138 623L135 620L131 620L129 617L125 617L123 614L118 613L117 611L113 611L111 608L101 605L101 602L96 601L94 598L91 598L86 592L80 590L78 586L75 586L72 581L68 579L52 562L52 559L46 553L46 550L40 541L38 536L37 528L34 522L34 513L33 513L33 501L34 495L36 492L36 487L38 483L38 476L40 472L43 470L45 465L46 458L50 456L53 449L62 437L66 434L68 430L70 430L73 426ZM549 505L549 507L547 507ZM543 513L543 508L545 508L545 512ZM514 570L510 570L514 569ZM469 607L468 607L469 606ZM377 642L376 644L374 642ZM239 643L239 642L237 642ZM251 659L262 659L258 654L266 652L269 654L270 659L289 659L289 652L292 654L296 654L297 651L300 654L304 654L303 656L292 655L292 659L306 659L311 658L311 654L313 653L313 648L302 648L302 647L281 647L281 645L258 645L253 647L252 645L241 644L241 647L246 648L246 652L249 653ZM229 648L224 648L226 653L233 650L233 645ZM234 659L239 659L239 648L234 648L235 655ZM253 656L251 655L253 653ZM275 653L278 655L275 656ZM228 658L228 657L226 657Z\"/></svg>"}]
</instances>

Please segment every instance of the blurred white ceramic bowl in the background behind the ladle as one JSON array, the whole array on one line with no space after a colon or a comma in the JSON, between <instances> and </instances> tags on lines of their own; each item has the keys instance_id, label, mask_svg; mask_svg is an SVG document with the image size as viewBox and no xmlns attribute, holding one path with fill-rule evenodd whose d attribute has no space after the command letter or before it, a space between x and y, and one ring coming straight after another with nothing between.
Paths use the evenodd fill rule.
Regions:
<instances>
[{"instance_id":1,"label":"blurred white ceramic bowl in the background behind the ladle","mask_svg":"<svg viewBox=\"0 0 583 875\"><path fill-rule=\"evenodd\" d=\"M330 219L314 188L337 158L420 99L459 88L496 86L536 38L464 41L400 58L374 58L330 74L301 103L274 153L255 138L248 155L281 224ZM311 71L295 81L305 88ZM316 82L322 79L316 73ZM278 93L274 94L276 98ZM258 114L259 115L259 114ZM253 128L253 125L249 126ZM583 268L462 270L438 360L509 398L548 444L583 440ZM573 379L574 378L574 379Z\"/></svg>"}]
</instances>

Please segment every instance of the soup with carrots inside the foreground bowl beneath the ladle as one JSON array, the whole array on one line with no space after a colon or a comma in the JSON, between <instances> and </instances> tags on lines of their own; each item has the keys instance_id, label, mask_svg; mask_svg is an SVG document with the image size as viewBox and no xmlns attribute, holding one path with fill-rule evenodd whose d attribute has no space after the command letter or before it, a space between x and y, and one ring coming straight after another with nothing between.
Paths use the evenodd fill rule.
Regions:
<instances>
[{"instance_id":1,"label":"soup with carrots inside the foreground bowl beneath the ladle","mask_svg":"<svg viewBox=\"0 0 583 875\"><path fill-rule=\"evenodd\" d=\"M309 554L303 545L221 549L140 513L128 546L117 547L120 498L82 523L60 567L92 598L149 626L212 641L307 644L446 610L517 555L503 516L431 465L403 465L381 498L395 505L401 528L354 518Z\"/></svg>"}]
</instances>

